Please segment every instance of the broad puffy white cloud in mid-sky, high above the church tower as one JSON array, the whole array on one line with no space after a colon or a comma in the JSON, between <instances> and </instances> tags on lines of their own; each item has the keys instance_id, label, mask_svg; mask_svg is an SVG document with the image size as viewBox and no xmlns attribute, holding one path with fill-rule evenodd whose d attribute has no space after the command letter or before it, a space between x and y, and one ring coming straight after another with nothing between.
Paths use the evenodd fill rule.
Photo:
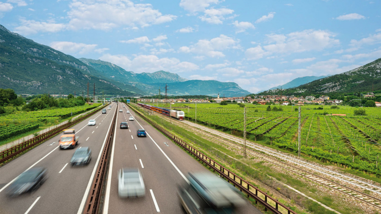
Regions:
<instances>
[{"instance_id":1,"label":"broad puffy white cloud in mid-sky, high above the church tower","mask_svg":"<svg viewBox=\"0 0 381 214\"><path fill-rule=\"evenodd\" d=\"M182 46L179 51L184 53L197 53L209 57L224 57L222 50L230 48L239 48L239 40L234 40L231 37L221 34L219 37L211 40L199 40L195 45L189 47Z\"/></svg>"}]
</instances>

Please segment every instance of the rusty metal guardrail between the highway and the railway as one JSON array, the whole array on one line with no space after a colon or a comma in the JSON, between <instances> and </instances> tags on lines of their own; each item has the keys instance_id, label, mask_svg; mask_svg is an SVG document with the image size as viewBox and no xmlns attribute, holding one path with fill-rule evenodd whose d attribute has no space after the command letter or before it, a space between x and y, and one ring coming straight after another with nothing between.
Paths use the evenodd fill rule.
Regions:
<instances>
[{"instance_id":1,"label":"rusty metal guardrail between the highway and the railway","mask_svg":"<svg viewBox=\"0 0 381 214\"><path fill-rule=\"evenodd\" d=\"M237 176L234 172L216 163L214 160L210 159L203 153L199 152L197 149L194 149L191 145L187 144L186 142L182 141L178 137L174 136L172 133L162 128L161 126L157 125L152 120L142 115L140 112L136 111L136 113L138 113L142 118L144 118L144 120L148 121L152 126L157 128L163 134L170 137L174 142L176 142L186 151L188 151L189 153L197 157L203 163L207 164L214 171L218 172L222 177L227 179L234 186L238 187L242 192L247 194L248 197L253 198L256 203L259 202L260 204L262 204L265 207L265 211L269 209L269 211L271 211L274 214L291 214L291 213L296 214L296 212L291 210L289 207L285 206L284 204L280 203L278 200L267 195L267 193L263 192L262 190L259 190L254 185L250 184L246 180Z\"/></svg>"}]
</instances>

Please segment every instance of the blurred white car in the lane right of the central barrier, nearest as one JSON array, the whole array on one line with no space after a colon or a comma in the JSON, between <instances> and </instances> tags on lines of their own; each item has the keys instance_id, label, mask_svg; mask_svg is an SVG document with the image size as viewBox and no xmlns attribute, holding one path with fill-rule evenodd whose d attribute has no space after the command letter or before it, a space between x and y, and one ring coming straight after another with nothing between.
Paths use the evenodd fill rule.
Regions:
<instances>
[{"instance_id":1,"label":"blurred white car in the lane right of the central barrier, nearest","mask_svg":"<svg viewBox=\"0 0 381 214\"><path fill-rule=\"evenodd\" d=\"M146 195L146 187L139 169L120 169L118 181L119 197L141 197Z\"/></svg>"}]
</instances>

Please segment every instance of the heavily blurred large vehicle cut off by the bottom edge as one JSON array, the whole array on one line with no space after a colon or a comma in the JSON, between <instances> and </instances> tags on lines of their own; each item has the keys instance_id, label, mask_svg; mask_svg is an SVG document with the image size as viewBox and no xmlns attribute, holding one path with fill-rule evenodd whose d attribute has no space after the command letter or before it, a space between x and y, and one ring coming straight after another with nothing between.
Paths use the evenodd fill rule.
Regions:
<instances>
[{"instance_id":1,"label":"heavily blurred large vehicle cut off by the bottom edge","mask_svg":"<svg viewBox=\"0 0 381 214\"><path fill-rule=\"evenodd\" d=\"M236 188L214 174L189 172L187 178L178 196L188 214L231 214L245 203Z\"/></svg>"}]
</instances>

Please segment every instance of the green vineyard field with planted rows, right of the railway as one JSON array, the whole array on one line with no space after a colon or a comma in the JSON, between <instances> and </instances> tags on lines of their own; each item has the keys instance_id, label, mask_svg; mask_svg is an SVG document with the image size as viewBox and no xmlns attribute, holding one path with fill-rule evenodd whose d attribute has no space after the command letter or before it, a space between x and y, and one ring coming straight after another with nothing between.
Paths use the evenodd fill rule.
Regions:
<instances>
[{"instance_id":1,"label":"green vineyard field with planted rows, right of the railway","mask_svg":"<svg viewBox=\"0 0 381 214\"><path fill-rule=\"evenodd\" d=\"M154 104L155 105L155 104ZM169 108L169 105L160 106ZM282 111L267 111L269 105L246 104L247 137L275 145L290 152L298 150L298 107L282 106ZM279 105L271 105L271 108ZM318 107L323 107L319 110ZM187 120L243 136L243 108L237 104L173 104L183 110ZM367 115L355 116L349 106L331 109L330 105L301 107L301 152L323 162L381 176L381 108L365 109ZM346 114L346 116L326 116Z\"/></svg>"}]
</instances>

